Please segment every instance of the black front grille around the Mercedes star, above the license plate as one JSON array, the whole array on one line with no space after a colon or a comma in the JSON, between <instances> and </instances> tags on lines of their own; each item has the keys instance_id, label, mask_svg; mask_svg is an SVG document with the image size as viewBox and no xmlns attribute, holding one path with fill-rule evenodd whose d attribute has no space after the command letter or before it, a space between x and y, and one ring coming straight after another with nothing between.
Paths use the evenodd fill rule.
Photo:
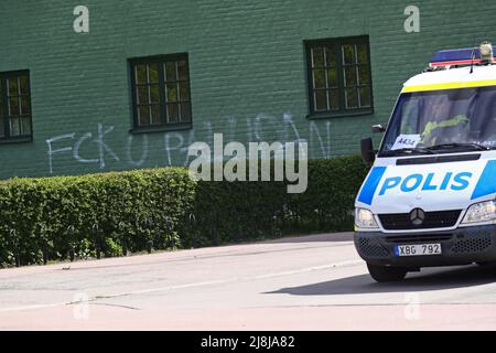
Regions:
<instances>
[{"instance_id":1,"label":"black front grille around the Mercedes star, above the license plate","mask_svg":"<svg viewBox=\"0 0 496 353\"><path fill-rule=\"evenodd\" d=\"M462 210L425 212L425 220L421 225L412 224L409 213L385 213L378 216L382 227L387 231L427 229L454 226Z\"/></svg>"}]
</instances>

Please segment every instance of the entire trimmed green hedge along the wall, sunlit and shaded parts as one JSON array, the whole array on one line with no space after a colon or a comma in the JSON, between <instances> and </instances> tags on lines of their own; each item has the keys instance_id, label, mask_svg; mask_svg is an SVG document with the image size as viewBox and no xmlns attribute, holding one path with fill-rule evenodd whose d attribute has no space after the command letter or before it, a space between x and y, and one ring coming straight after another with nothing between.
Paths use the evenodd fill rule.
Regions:
<instances>
[{"instance_id":1,"label":"entire trimmed green hedge along the wall, sunlit and shaded parts","mask_svg":"<svg viewBox=\"0 0 496 353\"><path fill-rule=\"evenodd\" d=\"M188 248L353 227L358 157L309 161L309 188L194 182L162 168L0 182L0 266Z\"/></svg>"}]
</instances>

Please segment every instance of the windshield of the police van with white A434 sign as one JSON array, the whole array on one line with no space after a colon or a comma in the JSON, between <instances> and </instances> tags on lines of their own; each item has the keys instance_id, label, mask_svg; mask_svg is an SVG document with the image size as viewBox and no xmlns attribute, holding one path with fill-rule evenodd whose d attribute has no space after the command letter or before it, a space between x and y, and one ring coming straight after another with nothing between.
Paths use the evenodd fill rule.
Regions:
<instances>
[{"instance_id":1,"label":"windshield of the police van with white A434 sign","mask_svg":"<svg viewBox=\"0 0 496 353\"><path fill-rule=\"evenodd\" d=\"M496 86L405 93L379 157L496 149Z\"/></svg>"}]
</instances>

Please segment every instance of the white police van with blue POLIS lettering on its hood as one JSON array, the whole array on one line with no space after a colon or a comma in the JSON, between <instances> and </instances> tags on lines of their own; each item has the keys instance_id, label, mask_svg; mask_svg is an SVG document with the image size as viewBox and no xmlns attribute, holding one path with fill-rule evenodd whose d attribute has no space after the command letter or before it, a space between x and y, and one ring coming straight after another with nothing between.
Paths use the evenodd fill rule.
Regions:
<instances>
[{"instance_id":1,"label":"white police van with blue POLIS lettering on its hood","mask_svg":"<svg viewBox=\"0 0 496 353\"><path fill-rule=\"evenodd\" d=\"M494 47L441 51L403 85L355 202L355 246L377 281L496 261Z\"/></svg>"}]
</instances>

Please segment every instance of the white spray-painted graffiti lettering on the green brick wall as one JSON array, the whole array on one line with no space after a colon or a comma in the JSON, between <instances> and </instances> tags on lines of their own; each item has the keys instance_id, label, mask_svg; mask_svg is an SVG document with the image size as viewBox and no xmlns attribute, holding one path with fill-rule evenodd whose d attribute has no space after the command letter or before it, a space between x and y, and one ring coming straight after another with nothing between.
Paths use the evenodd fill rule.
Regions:
<instances>
[{"instance_id":1,"label":"white spray-painted graffiti lettering on the green brick wall","mask_svg":"<svg viewBox=\"0 0 496 353\"><path fill-rule=\"evenodd\" d=\"M238 120L234 117L228 118L226 136L230 140L235 140L238 128L241 127ZM206 136L206 142L213 146L214 128L211 121L205 121L196 127L201 130L202 136ZM272 116L266 114L259 114L255 118L249 118L246 121L246 137L247 141L265 141L269 139L269 133L273 135L274 129L280 129L280 135L277 137L282 142L309 142L310 146L315 147L320 151L320 157L331 157L331 124L326 121L322 126L317 126L314 121L310 121L309 137L310 141L302 138L302 133L299 127L294 124L291 113L284 113L282 115L282 121L276 119ZM133 167L143 165L150 156L150 141L145 133L140 136L141 138L141 152L133 153L134 151L134 137L129 135L125 140L122 159L117 152L106 142L106 138L115 130L114 126L106 127L104 124L97 125L97 131L94 135L90 131L83 133L64 133L55 136L46 140L47 145L47 159L48 159L48 172L54 173L56 157L67 156L74 161L84 164L95 164L100 170L107 168L108 161L122 162ZM198 130L192 129L188 132L169 131L163 135L163 152L164 163L174 164L174 157L181 158L184 156L183 165L187 165L190 158L187 150L192 143L196 141L195 133ZM112 139L115 142L115 139ZM83 156L84 152L94 156ZM139 154L139 156L137 156ZM138 158L139 157L139 158ZM138 159L136 159L138 158Z\"/></svg>"}]
</instances>

